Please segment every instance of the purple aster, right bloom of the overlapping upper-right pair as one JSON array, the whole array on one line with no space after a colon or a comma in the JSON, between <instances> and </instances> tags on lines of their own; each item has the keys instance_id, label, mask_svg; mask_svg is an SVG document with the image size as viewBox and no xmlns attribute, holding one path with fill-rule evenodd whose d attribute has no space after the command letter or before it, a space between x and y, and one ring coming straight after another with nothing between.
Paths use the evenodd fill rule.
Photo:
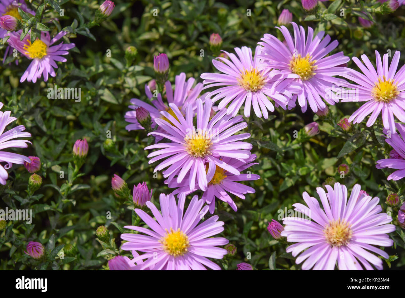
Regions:
<instances>
[{"instance_id":1,"label":"purple aster, right bloom of the overlapping upper-right pair","mask_svg":"<svg viewBox=\"0 0 405 298\"><path fill-rule=\"evenodd\" d=\"M284 84L298 84L299 92L294 94L288 103L289 108L295 107L295 101L298 98L298 104L303 112L307 110L308 104L315 113L318 109L325 109L326 104L322 100L335 105L338 102L336 98L330 98L326 93L330 90L332 84L338 84L342 79L333 77L341 75L345 69L340 64L348 62L349 57L343 56L343 52L328 55L338 46L338 41L330 43L330 36L325 32L319 32L313 36L313 29L308 27L308 34L305 37L305 30L302 26L292 22L294 28L294 39L285 26L278 28L286 39L287 46L271 34L264 34L262 45L262 58L264 69L279 69L282 74L281 79ZM323 38L323 39L322 39Z\"/></svg>"}]
</instances>

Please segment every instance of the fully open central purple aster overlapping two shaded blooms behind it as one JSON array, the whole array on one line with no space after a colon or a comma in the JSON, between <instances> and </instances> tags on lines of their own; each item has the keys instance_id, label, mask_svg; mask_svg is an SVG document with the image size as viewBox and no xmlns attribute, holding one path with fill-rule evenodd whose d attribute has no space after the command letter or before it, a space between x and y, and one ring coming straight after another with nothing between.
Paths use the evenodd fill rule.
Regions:
<instances>
[{"instance_id":1,"label":"fully open central purple aster overlapping two shaded blooms behind it","mask_svg":"<svg viewBox=\"0 0 405 298\"><path fill-rule=\"evenodd\" d=\"M162 127L166 133L151 132L148 135L160 135L171 140L170 143L158 143L147 146L145 150L160 148L149 153L152 157L149 163L164 159L154 172L168 167L163 172L164 178L170 183L177 176L177 183L181 183L187 177L190 190L194 190L196 180L199 189L207 191L208 179L215 174L217 166L234 174L240 172L232 165L220 158L233 158L245 160L250 157L252 144L241 140L250 137L249 133L234 135L247 127L242 116L232 117L226 115L226 109L219 111L210 119L212 102L211 99L203 101L197 99L197 116L195 127L193 124L194 111L188 103L185 109L185 118L174 103L169 103L176 118L166 111L161 111L167 120L155 118L156 124ZM169 123L171 122L171 123ZM241 122L241 123L239 123ZM208 169L206 164L208 163Z\"/></svg>"}]
</instances>

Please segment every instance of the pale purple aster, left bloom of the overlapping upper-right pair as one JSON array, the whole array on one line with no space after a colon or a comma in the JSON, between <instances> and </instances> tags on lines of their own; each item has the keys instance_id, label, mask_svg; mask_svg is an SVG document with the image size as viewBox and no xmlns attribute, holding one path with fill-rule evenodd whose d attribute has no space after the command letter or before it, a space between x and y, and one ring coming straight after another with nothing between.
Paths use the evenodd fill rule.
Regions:
<instances>
[{"instance_id":1,"label":"pale purple aster, left bloom of the overlapping upper-right pair","mask_svg":"<svg viewBox=\"0 0 405 298\"><path fill-rule=\"evenodd\" d=\"M291 92L298 92L294 86L288 86L282 80L279 80L278 71L265 70L261 71L260 64L262 60L258 58L262 47L257 46L254 58L252 60L252 49L249 47L235 48L236 54L226 53L230 60L225 58L213 59L212 63L216 69L222 73L203 73L201 78L204 79L204 89L217 86L225 86L217 88L210 92L207 97L211 97L212 101L221 102L218 109L223 109L228 103L232 102L227 114L236 116L239 109L245 103L245 116L250 116L251 106L254 109L256 116L269 118L268 110L273 112L274 105L267 98L270 96L277 105L286 109L288 99L281 93L287 96L292 96ZM222 61L222 62L221 62Z\"/></svg>"}]
</instances>

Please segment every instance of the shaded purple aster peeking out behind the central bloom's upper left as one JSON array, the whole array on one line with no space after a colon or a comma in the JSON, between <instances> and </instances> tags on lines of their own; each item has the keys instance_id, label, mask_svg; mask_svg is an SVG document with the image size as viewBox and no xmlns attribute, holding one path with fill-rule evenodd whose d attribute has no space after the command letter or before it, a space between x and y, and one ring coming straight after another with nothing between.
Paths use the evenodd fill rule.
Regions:
<instances>
[{"instance_id":1,"label":"shaded purple aster peeking out behind the central bloom's upper left","mask_svg":"<svg viewBox=\"0 0 405 298\"><path fill-rule=\"evenodd\" d=\"M172 116L175 116L174 112L170 107L168 107L169 103L175 104L181 114L185 115L185 107L188 103L190 103L193 109L196 108L196 100L200 95L201 90L203 90L203 84L198 83L193 88L195 79L190 77L190 79L185 81L185 73L181 73L180 75L176 75L175 79L175 91L173 92L172 85L169 81L166 81L166 97L167 97L167 104L162 101L162 94L158 93L157 97L153 97L151 89L147 84L145 84L145 93L147 97L151 100L152 105L141 101L140 99L133 98L130 100L132 105L129 106L130 109L135 110L138 107L143 107L146 109L152 120L152 129L156 126L155 118L162 118L166 120L164 116L160 114L160 111L167 111ZM204 95L202 96L204 98ZM139 124L138 120L136 119L136 111L128 111L125 114L126 122L130 122L125 128L128 131L133 131L135 129L144 129L141 124ZM158 127L158 132L164 133L164 129ZM163 139L163 137L157 135L156 142Z\"/></svg>"}]
</instances>

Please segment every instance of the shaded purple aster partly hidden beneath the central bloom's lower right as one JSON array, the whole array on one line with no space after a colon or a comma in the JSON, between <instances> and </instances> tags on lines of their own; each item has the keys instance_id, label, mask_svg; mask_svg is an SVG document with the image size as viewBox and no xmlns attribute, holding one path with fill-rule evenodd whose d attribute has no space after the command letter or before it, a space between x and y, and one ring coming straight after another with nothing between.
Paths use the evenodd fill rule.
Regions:
<instances>
[{"instance_id":1,"label":"shaded purple aster partly hidden beneath the central bloom's lower right","mask_svg":"<svg viewBox=\"0 0 405 298\"><path fill-rule=\"evenodd\" d=\"M250 155L248 159L243 161L232 159L230 157L224 157L221 158L220 160L234 167L239 172L242 172L243 170L247 169L248 167L251 167L252 165L257 165L258 163L253 162L255 159L256 154ZM208 170L208 168L209 165L206 165L205 168L206 171ZM168 187L177 188L175 191L173 191L173 195L177 193L188 195L198 189L197 185L196 189L190 191L190 187L188 185L189 176L190 172L185 176L185 179L183 179L181 183L177 183L176 180L172 180L170 183L168 183ZM216 166L215 172L211 173L210 176L207 176L207 181L209 181L207 191L203 193L201 199L203 199L205 202L207 202L207 204L209 204L209 212L211 214L213 214L215 210L215 198L218 198L221 201L228 203L229 206L234 211L237 211L238 208L228 193L236 195L241 199L245 199L244 194L255 193L255 189L250 186L241 184L239 183L239 181L258 180L258 179L260 179L260 176L256 174L251 174L248 172L248 174L235 175L226 171L225 169L222 169L219 166Z\"/></svg>"}]
</instances>

